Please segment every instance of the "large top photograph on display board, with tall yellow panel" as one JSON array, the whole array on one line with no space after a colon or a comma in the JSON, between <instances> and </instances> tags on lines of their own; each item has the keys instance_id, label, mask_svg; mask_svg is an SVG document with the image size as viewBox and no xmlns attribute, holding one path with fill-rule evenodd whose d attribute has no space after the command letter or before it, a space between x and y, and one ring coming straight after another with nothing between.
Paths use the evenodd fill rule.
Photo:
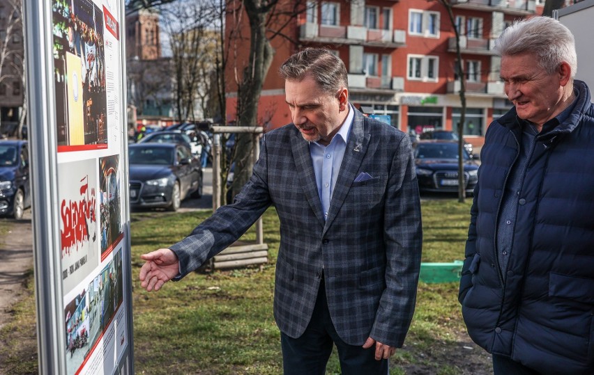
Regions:
<instances>
[{"instance_id":1,"label":"large top photograph on display board, with tall yellow panel","mask_svg":"<svg viewBox=\"0 0 594 375\"><path fill-rule=\"evenodd\" d=\"M90 0L54 0L52 14L59 151L106 148L102 10Z\"/></svg>"}]
</instances>

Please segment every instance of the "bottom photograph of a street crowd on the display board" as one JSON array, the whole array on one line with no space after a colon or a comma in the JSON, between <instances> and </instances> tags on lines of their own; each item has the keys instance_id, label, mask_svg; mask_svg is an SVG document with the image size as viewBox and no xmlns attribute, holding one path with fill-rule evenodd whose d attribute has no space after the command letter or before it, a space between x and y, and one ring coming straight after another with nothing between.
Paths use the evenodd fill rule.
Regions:
<instances>
[{"instance_id":1,"label":"bottom photograph of a street crowd on the display board","mask_svg":"<svg viewBox=\"0 0 594 375\"><path fill-rule=\"evenodd\" d=\"M122 251L66 308L66 369L76 372L89 358L123 301Z\"/></svg>"}]
</instances>

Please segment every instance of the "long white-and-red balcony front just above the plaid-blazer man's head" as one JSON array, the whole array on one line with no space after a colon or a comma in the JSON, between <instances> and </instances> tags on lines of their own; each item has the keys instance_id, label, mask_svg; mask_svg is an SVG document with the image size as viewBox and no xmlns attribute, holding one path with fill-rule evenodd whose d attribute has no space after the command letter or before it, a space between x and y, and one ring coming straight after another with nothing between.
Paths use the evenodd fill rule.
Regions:
<instances>
[{"instance_id":1,"label":"long white-and-red balcony front just above the plaid-blazer man's head","mask_svg":"<svg viewBox=\"0 0 594 375\"><path fill-rule=\"evenodd\" d=\"M300 26L300 40L321 43L342 43L368 47L403 47L404 30L367 29L364 26L328 26L306 22Z\"/></svg>"}]
</instances>

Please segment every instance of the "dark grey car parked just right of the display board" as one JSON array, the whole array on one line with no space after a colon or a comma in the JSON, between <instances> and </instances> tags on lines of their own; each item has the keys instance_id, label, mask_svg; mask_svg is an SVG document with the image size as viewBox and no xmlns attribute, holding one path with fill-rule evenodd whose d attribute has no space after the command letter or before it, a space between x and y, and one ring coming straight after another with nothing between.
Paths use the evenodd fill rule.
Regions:
<instances>
[{"instance_id":1,"label":"dark grey car parked just right of the display board","mask_svg":"<svg viewBox=\"0 0 594 375\"><path fill-rule=\"evenodd\" d=\"M200 161L176 143L128 146L130 207L162 207L177 211L189 196L202 196Z\"/></svg>"}]
</instances>

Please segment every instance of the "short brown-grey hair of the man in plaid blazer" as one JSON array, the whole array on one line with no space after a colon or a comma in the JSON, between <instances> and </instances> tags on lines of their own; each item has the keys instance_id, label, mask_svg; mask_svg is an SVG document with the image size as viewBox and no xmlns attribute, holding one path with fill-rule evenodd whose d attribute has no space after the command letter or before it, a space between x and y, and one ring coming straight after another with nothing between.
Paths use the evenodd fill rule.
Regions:
<instances>
[{"instance_id":1,"label":"short brown-grey hair of the man in plaid blazer","mask_svg":"<svg viewBox=\"0 0 594 375\"><path fill-rule=\"evenodd\" d=\"M279 68L286 81L301 81L312 77L325 93L335 95L341 88L349 88L347 67L329 49L306 48L287 58Z\"/></svg>"}]
</instances>

